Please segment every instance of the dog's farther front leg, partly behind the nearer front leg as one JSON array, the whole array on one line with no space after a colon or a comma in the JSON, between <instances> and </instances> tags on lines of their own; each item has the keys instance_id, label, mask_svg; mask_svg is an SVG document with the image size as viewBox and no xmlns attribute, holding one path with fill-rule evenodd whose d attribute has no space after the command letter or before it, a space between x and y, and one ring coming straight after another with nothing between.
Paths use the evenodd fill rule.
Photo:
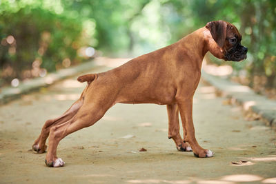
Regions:
<instances>
[{"instance_id":1,"label":"dog's farther front leg, partly behind the nearer front leg","mask_svg":"<svg viewBox=\"0 0 276 184\"><path fill-rule=\"evenodd\" d=\"M179 110L177 104L167 105L168 112L168 139L175 141L177 150L181 152L190 152L192 148L183 141L179 134Z\"/></svg>"}]
</instances>

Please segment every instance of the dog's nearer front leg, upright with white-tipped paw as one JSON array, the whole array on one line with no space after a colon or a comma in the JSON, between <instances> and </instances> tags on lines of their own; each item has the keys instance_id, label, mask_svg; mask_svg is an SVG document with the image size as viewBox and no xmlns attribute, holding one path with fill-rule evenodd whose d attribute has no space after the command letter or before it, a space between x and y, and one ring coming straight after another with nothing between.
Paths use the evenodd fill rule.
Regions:
<instances>
[{"instance_id":1,"label":"dog's nearer front leg, upright with white-tipped paw","mask_svg":"<svg viewBox=\"0 0 276 184\"><path fill-rule=\"evenodd\" d=\"M193 124L193 96L188 99L179 99L177 101L183 130L186 130L185 141L187 141L193 149L197 157L211 157L214 153L210 150L203 149L195 139L195 127Z\"/></svg>"}]
</instances>

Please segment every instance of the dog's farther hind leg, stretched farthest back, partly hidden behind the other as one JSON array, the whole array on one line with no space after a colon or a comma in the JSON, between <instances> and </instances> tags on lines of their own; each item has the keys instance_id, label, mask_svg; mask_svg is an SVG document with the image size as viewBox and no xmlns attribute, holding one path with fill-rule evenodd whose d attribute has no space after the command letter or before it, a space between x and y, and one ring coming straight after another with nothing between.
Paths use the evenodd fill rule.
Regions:
<instances>
[{"instance_id":1,"label":"dog's farther hind leg, stretched farthest back, partly hidden behind the other","mask_svg":"<svg viewBox=\"0 0 276 184\"><path fill-rule=\"evenodd\" d=\"M59 116L56 119L49 119L48 121L46 121L46 123L42 127L41 134L39 135L37 140L34 141L34 144L32 145L32 150L36 151L37 153L45 152L47 148L46 140L48 138L50 128L53 125L59 125L61 123L64 123L72 119L72 116L74 116L78 112L82 104L83 104L83 98L81 96L81 98L77 100L75 103L73 103L72 106L61 116Z\"/></svg>"}]
</instances>

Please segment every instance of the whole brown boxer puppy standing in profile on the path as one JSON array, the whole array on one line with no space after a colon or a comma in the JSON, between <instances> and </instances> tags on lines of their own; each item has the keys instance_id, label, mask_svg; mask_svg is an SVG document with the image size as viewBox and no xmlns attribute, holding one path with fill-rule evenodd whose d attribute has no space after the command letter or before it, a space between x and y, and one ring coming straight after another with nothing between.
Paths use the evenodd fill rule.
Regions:
<instances>
[{"instance_id":1,"label":"whole brown boxer puppy standing in profile on the path","mask_svg":"<svg viewBox=\"0 0 276 184\"><path fill-rule=\"evenodd\" d=\"M225 61L242 61L248 49L241 45L241 40L235 25L210 21L176 43L118 68L79 76L79 82L88 83L80 98L57 119L46 121L32 149L46 152L49 137L46 165L61 167L65 163L57 157L57 145L65 136L95 124L116 103L156 103L167 105L168 138L175 141L177 150L193 151L200 158L213 156L195 138L193 95L206 52ZM179 134L179 112L184 139Z\"/></svg>"}]
</instances>

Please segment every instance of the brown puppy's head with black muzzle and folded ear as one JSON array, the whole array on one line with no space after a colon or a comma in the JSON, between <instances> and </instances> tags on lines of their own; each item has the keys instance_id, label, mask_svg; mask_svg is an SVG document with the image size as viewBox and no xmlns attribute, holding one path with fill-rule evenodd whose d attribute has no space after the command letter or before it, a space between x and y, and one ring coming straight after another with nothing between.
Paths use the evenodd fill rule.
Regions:
<instances>
[{"instance_id":1,"label":"brown puppy's head with black muzzle and folded ear","mask_svg":"<svg viewBox=\"0 0 276 184\"><path fill-rule=\"evenodd\" d=\"M211 21L205 26L210 31L208 50L217 58L225 61L242 61L246 59L247 48L241 44L242 35L232 23ZM208 33L207 33L208 35Z\"/></svg>"}]
</instances>

